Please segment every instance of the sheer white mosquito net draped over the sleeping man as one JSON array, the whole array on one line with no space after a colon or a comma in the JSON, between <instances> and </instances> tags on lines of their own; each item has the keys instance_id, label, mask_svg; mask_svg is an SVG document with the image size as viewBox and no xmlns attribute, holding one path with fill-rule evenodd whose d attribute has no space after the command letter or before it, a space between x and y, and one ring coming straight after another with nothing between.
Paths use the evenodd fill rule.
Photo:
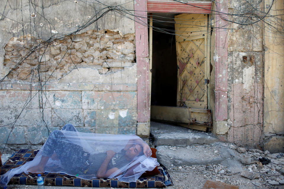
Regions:
<instances>
[{"instance_id":1,"label":"sheer white mosquito net draped over the sleeping man","mask_svg":"<svg viewBox=\"0 0 284 189\"><path fill-rule=\"evenodd\" d=\"M22 172L133 182L159 165L150 155L149 146L136 135L81 133L67 124L50 134L33 161L1 175L0 186L7 186L13 175Z\"/></svg>"}]
</instances>

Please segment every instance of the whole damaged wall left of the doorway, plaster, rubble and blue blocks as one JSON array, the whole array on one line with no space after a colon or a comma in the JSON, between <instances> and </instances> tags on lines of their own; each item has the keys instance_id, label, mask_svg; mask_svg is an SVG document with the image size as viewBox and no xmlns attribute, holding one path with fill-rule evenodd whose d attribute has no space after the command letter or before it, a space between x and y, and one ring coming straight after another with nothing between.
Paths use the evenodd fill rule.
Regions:
<instances>
[{"instance_id":1,"label":"whole damaged wall left of the doorway, plaster, rubble and blue blocks","mask_svg":"<svg viewBox=\"0 0 284 189\"><path fill-rule=\"evenodd\" d=\"M1 8L14 20L19 14L27 15L23 17L24 31L11 19L0 21L1 78L14 68L0 83L1 147L12 127L7 144L42 144L48 136L46 126L53 131L65 123L82 132L137 133L134 21L108 12L80 34L61 35L95 18L96 11L80 3L37 2L41 14L33 16L33 22L29 22L28 1L23 3L23 12L16 3L5 11ZM118 4L134 9L133 2L114 1L111 5ZM96 4L97 9L102 6ZM53 36L46 45L51 35L58 38ZM43 48L27 56L41 44ZM27 58L17 64L23 57Z\"/></svg>"}]
</instances>

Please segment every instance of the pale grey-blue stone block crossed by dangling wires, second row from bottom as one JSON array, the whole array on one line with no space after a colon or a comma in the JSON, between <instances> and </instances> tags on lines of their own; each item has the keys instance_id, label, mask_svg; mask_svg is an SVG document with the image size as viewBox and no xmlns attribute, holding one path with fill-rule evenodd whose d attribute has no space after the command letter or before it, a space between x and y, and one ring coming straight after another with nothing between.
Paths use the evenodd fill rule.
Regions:
<instances>
[{"instance_id":1,"label":"pale grey-blue stone block crossed by dangling wires, second row from bottom","mask_svg":"<svg viewBox=\"0 0 284 189\"><path fill-rule=\"evenodd\" d=\"M51 108L25 108L16 122L16 125L20 126L43 126L43 119L47 126L51 126ZM19 111L20 112L20 111ZM17 114L15 114L17 116Z\"/></svg>"}]
</instances>

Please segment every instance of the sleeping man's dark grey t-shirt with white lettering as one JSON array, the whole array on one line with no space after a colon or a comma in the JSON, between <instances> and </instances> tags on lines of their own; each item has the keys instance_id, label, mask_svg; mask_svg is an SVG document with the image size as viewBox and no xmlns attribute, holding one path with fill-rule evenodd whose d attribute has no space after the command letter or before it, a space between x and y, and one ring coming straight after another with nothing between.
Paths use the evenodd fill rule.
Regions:
<instances>
[{"instance_id":1,"label":"sleeping man's dark grey t-shirt with white lettering","mask_svg":"<svg viewBox=\"0 0 284 189\"><path fill-rule=\"evenodd\" d=\"M94 154L89 157L89 160L92 162L92 164L89 167L88 173L90 174L96 174L99 168L101 167L102 162L106 159L106 153L99 153ZM112 159L109 161L109 164L107 166L106 170L112 169L114 167L120 169L121 167L127 165L131 161L128 161L125 159L125 151L122 150L121 153L115 153Z\"/></svg>"}]
</instances>

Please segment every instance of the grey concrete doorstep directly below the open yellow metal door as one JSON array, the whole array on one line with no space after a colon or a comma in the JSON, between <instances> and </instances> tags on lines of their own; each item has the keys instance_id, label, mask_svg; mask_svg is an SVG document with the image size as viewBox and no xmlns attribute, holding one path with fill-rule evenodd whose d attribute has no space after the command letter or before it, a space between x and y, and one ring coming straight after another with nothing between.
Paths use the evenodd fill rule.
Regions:
<instances>
[{"instance_id":1,"label":"grey concrete doorstep directly below the open yellow metal door","mask_svg":"<svg viewBox=\"0 0 284 189\"><path fill-rule=\"evenodd\" d=\"M212 144L219 142L219 139L212 133L154 121L151 121L150 133L155 146L190 146L193 144Z\"/></svg>"}]
</instances>

